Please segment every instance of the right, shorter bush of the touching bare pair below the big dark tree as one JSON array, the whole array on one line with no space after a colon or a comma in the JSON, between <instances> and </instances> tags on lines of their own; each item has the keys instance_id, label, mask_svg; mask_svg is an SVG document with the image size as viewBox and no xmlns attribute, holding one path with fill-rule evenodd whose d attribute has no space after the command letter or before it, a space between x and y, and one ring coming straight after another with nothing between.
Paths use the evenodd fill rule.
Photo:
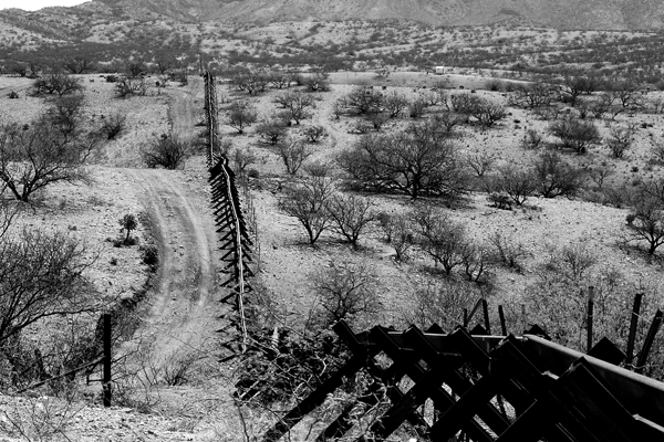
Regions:
<instances>
[{"instance_id":1,"label":"right, shorter bush of the touching bare pair below the big dark tree","mask_svg":"<svg viewBox=\"0 0 664 442\"><path fill-rule=\"evenodd\" d=\"M328 202L332 230L345 238L353 248L357 248L360 235L376 219L374 206L371 198L340 193L333 196Z\"/></svg>"}]
</instances>

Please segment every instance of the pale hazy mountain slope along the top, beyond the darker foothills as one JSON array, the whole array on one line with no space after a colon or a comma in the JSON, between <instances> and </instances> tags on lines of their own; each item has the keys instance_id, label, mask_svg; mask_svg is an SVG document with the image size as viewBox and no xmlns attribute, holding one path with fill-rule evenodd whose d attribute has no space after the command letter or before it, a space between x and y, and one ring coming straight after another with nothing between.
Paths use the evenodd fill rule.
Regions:
<instances>
[{"instance_id":1,"label":"pale hazy mountain slope along the top, beyond the darker foothills","mask_svg":"<svg viewBox=\"0 0 664 442\"><path fill-rule=\"evenodd\" d=\"M664 29L662 0L94 0L186 21L405 19L436 25L522 22L557 29Z\"/></svg>"}]
</instances>

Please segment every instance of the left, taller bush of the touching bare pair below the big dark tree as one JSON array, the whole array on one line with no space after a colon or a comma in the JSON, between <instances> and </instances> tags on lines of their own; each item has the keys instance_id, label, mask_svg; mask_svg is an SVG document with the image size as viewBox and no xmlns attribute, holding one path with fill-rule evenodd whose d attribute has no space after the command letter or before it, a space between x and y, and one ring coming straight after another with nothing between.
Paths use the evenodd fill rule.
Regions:
<instances>
[{"instance_id":1,"label":"left, taller bush of the touching bare pair below the big dark tree","mask_svg":"<svg viewBox=\"0 0 664 442\"><path fill-rule=\"evenodd\" d=\"M279 200L279 208L302 224L311 245L330 227L332 217L328 202L333 193L334 185L330 178L313 176L286 187Z\"/></svg>"}]
</instances>

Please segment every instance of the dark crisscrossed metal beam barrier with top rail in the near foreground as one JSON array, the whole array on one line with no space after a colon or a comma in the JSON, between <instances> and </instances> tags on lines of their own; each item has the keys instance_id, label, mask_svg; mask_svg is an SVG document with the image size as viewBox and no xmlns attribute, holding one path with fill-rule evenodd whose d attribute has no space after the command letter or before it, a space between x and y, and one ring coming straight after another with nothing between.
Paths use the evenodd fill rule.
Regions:
<instances>
[{"instance_id":1,"label":"dark crisscrossed metal beam barrier with top rail in the near foreground","mask_svg":"<svg viewBox=\"0 0 664 442\"><path fill-rule=\"evenodd\" d=\"M423 441L664 440L664 383L541 336L470 335L465 327L446 334L438 326L354 334L343 322L334 330L352 357L281 418L264 442L281 439L360 370L386 386L390 403L357 441L385 440L405 422ZM378 367L378 354L391 359L387 368ZM403 391L406 377L414 385ZM372 397L371 388L356 403ZM427 400L436 413L425 417ZM357 419L357 408L346 407L317 441L347 436Z\"/></svg>"}]
</instances>

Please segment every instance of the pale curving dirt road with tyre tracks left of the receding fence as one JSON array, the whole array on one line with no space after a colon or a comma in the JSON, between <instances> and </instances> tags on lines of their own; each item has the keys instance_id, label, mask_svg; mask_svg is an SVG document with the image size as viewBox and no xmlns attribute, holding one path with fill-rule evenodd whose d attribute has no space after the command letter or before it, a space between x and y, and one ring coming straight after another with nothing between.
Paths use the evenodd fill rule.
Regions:
<instances>
[{"instance_id":1,"label":"pale curving dirt road with tyre tracks left of the receding fence","mask_svg":"<svg viewBox=\"0 0 664 442\"><path fill-rule=\"evenodd\" d=\"M198 80L198 78L196 78ZM194 83L194 84L193 84ZM196 87L167 91L169 117L181 138L194 134ZM218 328L217 233L204 170L125 169L152 215L159 248L158 284L148 294L151 312L143 333L163 362L183 351L201 350ZM198 173L197 173L198 172ZM193 178L194 177L194 178Z\"/></svg>"}]
</instances>

